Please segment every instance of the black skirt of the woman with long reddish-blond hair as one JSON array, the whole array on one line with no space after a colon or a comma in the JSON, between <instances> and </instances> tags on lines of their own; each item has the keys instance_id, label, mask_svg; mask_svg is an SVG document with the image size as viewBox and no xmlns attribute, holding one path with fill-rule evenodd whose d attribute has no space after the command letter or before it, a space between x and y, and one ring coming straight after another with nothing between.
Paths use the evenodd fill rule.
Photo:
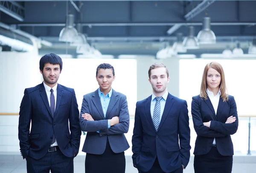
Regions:
<instances>
[{"instance_id":1,"label":"black skirt of the woman with long reddish-blond hair","mask_svg":"<svg viewBox=\"0 0 256 173\"><path fill-rule=\"evenodd\" d=\"M233 156L222 156L217 147L212 147L209 153L196 155L194 159L195 173L231 173Z\"/></svg>"}]
</instances>

